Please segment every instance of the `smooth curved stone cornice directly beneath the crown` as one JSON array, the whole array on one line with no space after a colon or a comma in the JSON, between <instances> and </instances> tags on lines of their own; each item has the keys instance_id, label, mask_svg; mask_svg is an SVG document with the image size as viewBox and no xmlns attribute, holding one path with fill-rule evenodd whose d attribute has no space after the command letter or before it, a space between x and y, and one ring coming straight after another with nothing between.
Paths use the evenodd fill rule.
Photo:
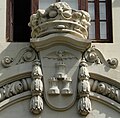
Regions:
<instances>
[{"instance_id":1,"label":"smooth curved stone cornice directly beneath the crown","mask_svg":"<svg viewBox=\"0 0 120 118\"><path fill-rule=\"evenodd\" d=\"M82 38L69 33L56 33L49 34L42 38L31 38L30 43L36 51L42 51L57 45L65 45L84 52L91 46L90 40L83 40Z\"/></svg>"}]
</instances>

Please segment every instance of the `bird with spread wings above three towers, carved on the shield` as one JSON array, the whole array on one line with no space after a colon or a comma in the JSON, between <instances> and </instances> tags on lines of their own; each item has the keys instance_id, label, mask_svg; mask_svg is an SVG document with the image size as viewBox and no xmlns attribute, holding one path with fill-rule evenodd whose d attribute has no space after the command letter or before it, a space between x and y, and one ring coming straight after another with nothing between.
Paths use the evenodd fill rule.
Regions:
<instances>
[{"instance_id":1,"label":"bird with spread wings above three towers, carved on the shield","mask_svg":"<svg viewBox=\"0 0 120 118\"><path fill-rule=\"evenodd\" d=\"M53 56L54 55L54 56ZM44 58L49 58L49 59L55 59L57 60L57 63L55 63L55 74L53 77L49 79L49 91L48 94L50 95L56 95L56 94L65 94L65 95L70 95L72 94L72 88L71 88L71 83L72 79L71 77L68 77L66 73L66 64L64 62L64 59L72 59L75 58L69 51L67 50L59 50L52 52L49 54L47 57ZM63 83L63 88L60 90L59 89L59 83L60 81Z\"/></svg>"}]
</instances>

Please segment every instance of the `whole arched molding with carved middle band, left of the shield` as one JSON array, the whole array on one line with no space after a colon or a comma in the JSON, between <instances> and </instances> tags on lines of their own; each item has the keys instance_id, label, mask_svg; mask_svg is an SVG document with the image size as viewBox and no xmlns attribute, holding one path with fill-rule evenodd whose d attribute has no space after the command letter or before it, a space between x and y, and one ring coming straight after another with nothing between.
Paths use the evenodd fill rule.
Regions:
<instances>
[{"instance_id":1,"label":"whole arched molding with carved middle band, left of the shield","mask_svg":"<svg viewBox=\"0 0 120 118\"><path fill-rule=\"evenodd\" d=\"M0 71L0 111L11 104L30 98L31 71L31 62Z\"/></svg>"}]
</instances>

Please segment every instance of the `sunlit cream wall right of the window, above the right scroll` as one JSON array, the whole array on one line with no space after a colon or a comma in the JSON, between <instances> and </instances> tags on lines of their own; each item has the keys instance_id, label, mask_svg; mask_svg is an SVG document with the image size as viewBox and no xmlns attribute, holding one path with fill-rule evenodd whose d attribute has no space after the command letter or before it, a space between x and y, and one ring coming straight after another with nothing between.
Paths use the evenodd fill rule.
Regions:
<instances>
[{"instance_id":1,"label":"sunlit cream wall right of the window, above the right scroll","mask_svg":"<svg viewBox=\"0 0 120 118\"><path fill-rule=\"evenodd\" d=\"M116 57L120 59L120 0L112 0L113 19L113 43L96 43L98 49L103 52L106 58Z\"/></svg>"}]
</instances>

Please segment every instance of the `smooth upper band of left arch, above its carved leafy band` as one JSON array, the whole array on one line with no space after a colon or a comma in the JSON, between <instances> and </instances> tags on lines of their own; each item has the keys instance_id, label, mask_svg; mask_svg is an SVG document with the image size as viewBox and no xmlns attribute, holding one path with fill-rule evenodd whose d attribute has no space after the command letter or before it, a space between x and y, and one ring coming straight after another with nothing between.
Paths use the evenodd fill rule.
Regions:
<instances>
[{"instance_id":1,"label":"smooth upper band of left arch, above its carved leafy band","mask_svg":"<svg viewBox=\"0 0 120 118\"><path fill-rule=\"evenodd\" d=\"M0 87L31 76L32 63L23 63L0 71Z\"/></svg>"}]
</instances>

